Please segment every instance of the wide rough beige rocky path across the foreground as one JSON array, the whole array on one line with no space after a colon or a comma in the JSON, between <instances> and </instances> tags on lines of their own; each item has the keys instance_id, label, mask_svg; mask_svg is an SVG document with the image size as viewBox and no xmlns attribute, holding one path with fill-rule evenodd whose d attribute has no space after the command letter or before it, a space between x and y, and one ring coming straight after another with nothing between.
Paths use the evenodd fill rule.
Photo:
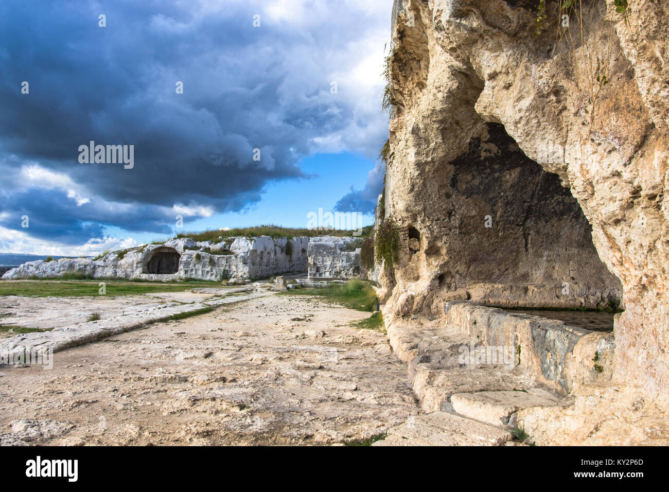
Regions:
<instances>
[{"instance_id":1,"label":"wide rough beige rocky path across the foreground","mask_svg":"<svg viewBox=\"0 0 669 492\"><path fill-rule=\"evenodd\" d=\"M2 444L328 444L417 414L406 367L361 313L242 301L0 368Z\"/></svg>"}]
</instances>

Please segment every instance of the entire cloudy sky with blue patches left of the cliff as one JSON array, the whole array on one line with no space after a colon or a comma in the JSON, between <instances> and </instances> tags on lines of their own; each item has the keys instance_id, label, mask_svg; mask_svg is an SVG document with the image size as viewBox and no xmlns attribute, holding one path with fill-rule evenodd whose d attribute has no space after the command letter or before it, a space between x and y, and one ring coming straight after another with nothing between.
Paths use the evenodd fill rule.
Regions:
<instances>
[{"instance_id":1,"label":"entire cloudy sky with blue patches left of the cliff","mask_svg":"<svg viewBox=\"0 0 669 492\"><path fill-rule=\"evenodd\" d=\"M319 208L371 224L391 8L3 0L0 252L88 256L184 231L306 227ZM106 147L89 161L91 141L125 146L126 161Z\"/></svg>"}]
</instances>

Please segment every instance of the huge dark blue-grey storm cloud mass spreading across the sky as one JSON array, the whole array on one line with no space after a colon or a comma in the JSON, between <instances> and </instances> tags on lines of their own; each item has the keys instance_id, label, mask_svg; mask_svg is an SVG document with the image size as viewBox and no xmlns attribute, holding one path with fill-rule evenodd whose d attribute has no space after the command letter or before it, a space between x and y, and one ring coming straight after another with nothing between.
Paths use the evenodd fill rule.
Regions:
<instances>
[{"instance_id":1,"label":"huge dark blue-grey storm cloud mass spreading across the sky","mask_svg":"<svg viewBox=\"0 0 669 492\"><path fill-rule=\"evenodd\" d=\"M165 233L175 203L242 210L268 183L304 177L298 159L319 139L379 147L382 118L359 107L360 84L340 78L333 95L330 81L351 73L351 43L385 17L351 11L352 1L213 4L0 3L0 226L15 228L25 212L31 234L72 244L107 225ZM134 145L134 168L79 163L89 141ZM10 186L28 163L66 175L90 201L66 187ZM359 199L369 201L366 190Z\"/></svg>"}]
</instances>

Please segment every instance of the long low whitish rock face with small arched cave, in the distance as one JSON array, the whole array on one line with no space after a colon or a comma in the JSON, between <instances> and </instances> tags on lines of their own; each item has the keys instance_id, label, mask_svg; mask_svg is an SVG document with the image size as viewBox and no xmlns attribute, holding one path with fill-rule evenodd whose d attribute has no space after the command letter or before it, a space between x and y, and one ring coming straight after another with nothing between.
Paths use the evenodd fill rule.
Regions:
<instances>
[{"instance_id":1,"label":"long low whitish rock face with small arched cave, in the distance","mask_svg":"<svg viewBox=\"0 0 669 492\"><path fill-rule=\"evenodd\" d=\"M308 243L306 236L290 240L270 236L226 238L213 245L178 238L165 244L112 252L98 260L62 258L27 262L9 270L2 278L67 275L164 281L264 278L277 273L306 271Z\"/></svg>"}]
</instances>

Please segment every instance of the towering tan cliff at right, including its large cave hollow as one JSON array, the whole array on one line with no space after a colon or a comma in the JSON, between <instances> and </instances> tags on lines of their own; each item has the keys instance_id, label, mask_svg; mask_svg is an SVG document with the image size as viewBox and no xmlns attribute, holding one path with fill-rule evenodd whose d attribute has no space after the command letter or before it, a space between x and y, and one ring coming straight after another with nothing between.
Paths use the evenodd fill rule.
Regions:
<instances>
[{"instance_id":1,"label":"towering tan cliff at right, including its large cave hollow","mask_svg":"<svg viewBox=\"0 0 669 492\"><path fill-rule=\"evenodd\" d=\"M636 0L626 22L583 3L583 39L570 12L556 33L551 1L533 35L538 5L395 1L384 209L402 250L380 278L385 313L438 315L453 291L624 307L613 382L666 408L667 5Z\"/></svg>"}]
</instances>

